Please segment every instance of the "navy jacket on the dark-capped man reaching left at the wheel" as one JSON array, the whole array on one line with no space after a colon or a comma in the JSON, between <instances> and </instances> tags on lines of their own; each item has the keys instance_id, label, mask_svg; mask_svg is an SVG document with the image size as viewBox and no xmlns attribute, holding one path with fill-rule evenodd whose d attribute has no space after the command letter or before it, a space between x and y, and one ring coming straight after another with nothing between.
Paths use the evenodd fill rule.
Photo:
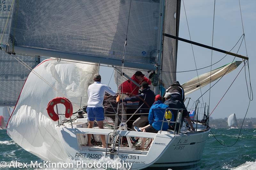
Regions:
<instances>
[{"instance_id":1,"label":"navy jacket on the dark-capped man reaching left at the wheel","mask_svg":"<svg viewBox=\"0 0 256 170\"><path fill-rule=\"evenodd\" d=\"M153 103L155 102L156 95L152 90L150 90L150 87L147 87L147 88L143 89L138 94L138 96L141 97L142 99L144 99L148 103L149 107L151 107L153 105ZM125 102L127 102L127 101L131 101L131 102L139 101L139 107L143 104L140 107L139 113L149 113L148 106L136 96L126 97L123 101L125 101ZM147 115L143 115L143 116L147 116Z\"/></svg>"}]
</instances>

